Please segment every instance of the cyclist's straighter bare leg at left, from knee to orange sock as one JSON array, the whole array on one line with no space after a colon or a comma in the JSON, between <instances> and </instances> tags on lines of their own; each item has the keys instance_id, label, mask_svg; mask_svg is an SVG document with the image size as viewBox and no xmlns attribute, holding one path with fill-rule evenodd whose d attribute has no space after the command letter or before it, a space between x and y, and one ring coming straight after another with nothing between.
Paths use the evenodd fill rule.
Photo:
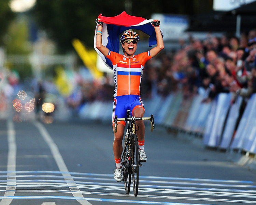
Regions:
<instances>
[{"instance_id":1,"label":"cyclist's straighter bare leg at left, from knee to orange sock","mask_svg":"<svg viewBox=\"0 0 256 205\"><path fill-rule=\"evenodd\" d=\"M114 130L114 126L113 126ZM116 133L114 133L113 151L115 159L119 159L123 152L122 140L124 137L125 126L123 124L117 124Z\"/></svg>"}]
</instances>

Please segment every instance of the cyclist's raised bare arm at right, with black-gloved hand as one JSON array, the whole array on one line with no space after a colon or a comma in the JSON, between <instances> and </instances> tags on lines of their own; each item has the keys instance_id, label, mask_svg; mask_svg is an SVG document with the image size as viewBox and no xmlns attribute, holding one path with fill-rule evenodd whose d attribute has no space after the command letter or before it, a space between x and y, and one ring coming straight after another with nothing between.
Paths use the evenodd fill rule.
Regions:
<instances>
[{"instance_id":1,"label":"cyclist's raised bare arm at right, with black-gloved hand","mask_svg":"<svg viewBox=\"0 0 256 205\"><path fill-rule=\"evenodd\" d=\"M163 38L162 38L162 34L159 28L160 25L160 21L159 20L154 20L152 22L152 26L154 26L155 31L156 31L156 47L152 48L150 50L150 55L151 57L155 57L163 48L165 48L165 46L163 45Z\"/></svg>"}]
</instances>

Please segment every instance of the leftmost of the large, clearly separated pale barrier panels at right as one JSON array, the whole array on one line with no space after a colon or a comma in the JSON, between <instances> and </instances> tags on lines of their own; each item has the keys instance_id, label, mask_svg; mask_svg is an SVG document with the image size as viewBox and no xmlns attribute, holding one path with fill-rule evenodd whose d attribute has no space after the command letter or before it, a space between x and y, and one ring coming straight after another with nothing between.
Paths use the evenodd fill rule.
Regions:
<instances>
[{"instance_id":1,"label":"leftmost of the large, clearly separated pale barrier panels at right","mask_svg":"<svg viewBox=\"0 0 256 205\"><path fill-rule=\"evenodd\" d=\"M204 144L211 147L216 147L221 139L223 125L227 116L227 111L230 105L231 93L220 93L217 96L217 104L215 111L212 110L213 122L210 135L204 136Z\"/></svg>"}]
</instances>

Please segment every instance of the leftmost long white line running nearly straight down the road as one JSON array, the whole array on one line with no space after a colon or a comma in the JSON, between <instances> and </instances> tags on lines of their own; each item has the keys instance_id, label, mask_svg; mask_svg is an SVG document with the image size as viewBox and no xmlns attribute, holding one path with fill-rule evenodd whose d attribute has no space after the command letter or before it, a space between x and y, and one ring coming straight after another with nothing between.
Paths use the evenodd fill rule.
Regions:
<instances>
[{"instance_id":1,"label":"leftmost long white line running nearly straight down the road","mask_svg":"<svg viewBox=\"0 0 256 205\"><path fill-rule=\"evenodd\" d=\"M7 184L4 196L14 196L15 182L16 182L16 139L14 123L10 119L7 121L7 138L8 138L8 159L7 159ZM0 205L9 205L12 203L12 198L4 198L1 200Z\"/></svg>"}]
</instances>

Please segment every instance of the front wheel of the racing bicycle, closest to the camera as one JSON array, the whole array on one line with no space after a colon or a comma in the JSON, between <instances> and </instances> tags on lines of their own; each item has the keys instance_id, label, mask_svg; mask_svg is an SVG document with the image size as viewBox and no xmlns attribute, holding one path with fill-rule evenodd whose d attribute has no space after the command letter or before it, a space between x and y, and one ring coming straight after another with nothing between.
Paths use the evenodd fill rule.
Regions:
<instances>
[{"instance_id":1,"label":"front wheel of the racing bicycle, closest to the camera","mask_svg":"<svg viewBox=\"0 0 256 205\"><path fill-rule=\"evenodd\" d=\"M132 140L132 185L134 196L138 195L139 189L139 145L137 135Z\"/></svg>"}]
</instances>

